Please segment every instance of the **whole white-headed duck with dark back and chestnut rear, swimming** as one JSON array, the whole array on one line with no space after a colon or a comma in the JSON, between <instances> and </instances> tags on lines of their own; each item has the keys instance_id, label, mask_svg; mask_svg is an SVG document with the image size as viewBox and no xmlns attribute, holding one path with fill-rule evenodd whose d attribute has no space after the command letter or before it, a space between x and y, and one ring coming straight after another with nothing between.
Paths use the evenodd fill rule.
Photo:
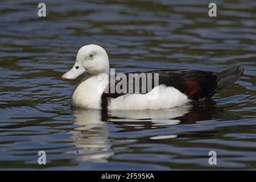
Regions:
<instances>
[{"instance_id":1,"label":"whole white-headed duck with dark back and chestnut rear, swimming","mask_svg":"<svg viewBox=\"0 0 256 182\"><path fill-rule=\"evenodd\" d=\"M61 78L74 80L84 75L72 92L72 107L144 110L169 109L209 99L239 80L243 71L236 64L220 72L162 69L113 75L105 49L89 44L79 49L75 64Z\"/></svg>"}]
</instances>

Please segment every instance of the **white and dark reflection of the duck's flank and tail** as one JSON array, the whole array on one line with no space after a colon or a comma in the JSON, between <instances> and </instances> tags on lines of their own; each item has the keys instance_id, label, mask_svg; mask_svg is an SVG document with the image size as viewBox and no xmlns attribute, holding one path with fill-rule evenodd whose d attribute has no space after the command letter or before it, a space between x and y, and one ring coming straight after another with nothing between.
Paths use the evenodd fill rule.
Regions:
<instances>
[{"instance_id":1,"label":"white and dark reflection of the duck's flank and tail","mask_svg":"<svg viewBox=\"0 0 256 182\"><path fill-rule=\"evenodd\" d=\"M236 114L226 111L223 107L218 107L213 100L196 103L193 105L174 107L171 109L158 110L109 110L103 111L104 121L115 123L129 123L138 125L150 123L151 127L163 125L184 125L192 124L197 121L206 121L209 119L234 120L240 117ZM131 126L130 125L130 126Z\"/></svg>"}]
</instances>

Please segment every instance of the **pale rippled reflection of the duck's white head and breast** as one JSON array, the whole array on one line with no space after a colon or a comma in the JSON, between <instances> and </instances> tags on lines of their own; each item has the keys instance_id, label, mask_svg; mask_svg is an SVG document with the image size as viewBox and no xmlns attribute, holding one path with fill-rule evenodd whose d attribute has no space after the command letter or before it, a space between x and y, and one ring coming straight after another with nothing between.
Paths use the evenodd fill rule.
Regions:
<instances>
[{"instance_id":1,"label":"pale rippled reflection of the duck's white head and breast","mask_svg":"<svg viewBox=\"0 0 256 182\"><path fill-rule=\"evenodd\" d=\"M77 131L72 131L75 145L80 148L76 154L81 154L79 160L97 160L104 162L114 155L108 141L108 126L101 121L101 111L96 109L73 109L74 125L79 125Z\"/></svg>"}]
</instances>

